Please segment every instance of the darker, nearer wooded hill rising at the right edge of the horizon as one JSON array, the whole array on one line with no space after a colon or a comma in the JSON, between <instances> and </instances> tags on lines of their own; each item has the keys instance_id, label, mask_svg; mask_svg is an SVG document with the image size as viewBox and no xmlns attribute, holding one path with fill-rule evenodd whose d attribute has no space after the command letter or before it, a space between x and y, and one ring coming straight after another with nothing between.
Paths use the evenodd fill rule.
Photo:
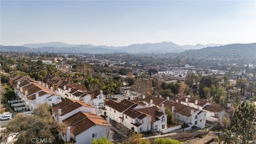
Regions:
<instances>
[{"instance_id":1,"label":"darker, nearer wooded hill rising at the right edge of the horizon","mask_svg":"<svg viewBox=\"0 0 256 144\"><path fill-rule=\"evenodd\" d=\"M180 55L194 58L255 58L256 43L206 47L199 50L187 50L180 53Z\"/></svg>"}]
</instances>

